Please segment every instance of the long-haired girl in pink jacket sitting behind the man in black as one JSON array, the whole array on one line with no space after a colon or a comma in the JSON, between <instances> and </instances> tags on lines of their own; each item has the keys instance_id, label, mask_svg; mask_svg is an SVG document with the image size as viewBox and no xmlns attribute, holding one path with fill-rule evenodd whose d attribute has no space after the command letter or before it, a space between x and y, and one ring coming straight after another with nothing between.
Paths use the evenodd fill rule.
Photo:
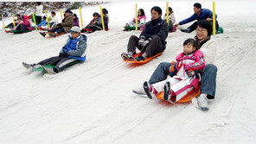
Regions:
<instances>
[{"instance_id":1,"label":"long-haired girl in pink jacket sitting behind the man in black","mask_svg":"<svg viewBox=\"0 0 256 144\"><path fill-rule=\"evenodd\" d=\"M144 28L144 24L146 22L146 16L144 13L144 9L138 9L138 27L139 30L142 31ZM125 27L136 27L136 17L134 17L132 20L130 20L128 23L126 23ZM124 31L127 31L127 29L124 29Z\"/></svg>"}]
</instances>

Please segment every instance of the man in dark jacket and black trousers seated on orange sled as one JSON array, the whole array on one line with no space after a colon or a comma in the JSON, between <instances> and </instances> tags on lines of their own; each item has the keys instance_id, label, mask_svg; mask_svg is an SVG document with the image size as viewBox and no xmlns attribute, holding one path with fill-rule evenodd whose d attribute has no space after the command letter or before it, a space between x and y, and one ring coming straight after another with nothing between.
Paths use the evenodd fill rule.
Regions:
<instances>
[{"instance_id":1,"label":"man in dark jacket and black trousers seated on orange sled","mask_svg":"<svg viewBox=\"0 0 256 144\"><path fill-rule=\"evenodd\" d=\"M164 51L166 45L165 40L168 36L168 24L161 18L162 9L160 7L155 6L150 11L151 21L145 24L139 37L131 35L127 46L128 53L121 54L123 59L133 60L132 55L136 53L136 47L143 53L134 58L138 61L144 60L147 56L151 57Z\"/></svg>"}]
</instances>

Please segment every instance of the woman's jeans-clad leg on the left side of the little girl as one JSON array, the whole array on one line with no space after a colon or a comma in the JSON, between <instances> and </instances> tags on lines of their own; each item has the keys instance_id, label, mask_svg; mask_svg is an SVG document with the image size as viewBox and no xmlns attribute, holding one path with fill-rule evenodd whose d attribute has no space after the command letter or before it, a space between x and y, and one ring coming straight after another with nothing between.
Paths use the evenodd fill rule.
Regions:
<instances>
[{"instance_id":1,"label":"woman's jeans-clad leg on the left side of the little girl","mask_svg":"<svg viewBox=\"0 0 256 144\"><path fill-rule=\"evenodd\" d=\"M161 62L150 77L150 85L165 80L169 74L170 66L171 64L168 62Z\"/></svg>"}]
</instances>

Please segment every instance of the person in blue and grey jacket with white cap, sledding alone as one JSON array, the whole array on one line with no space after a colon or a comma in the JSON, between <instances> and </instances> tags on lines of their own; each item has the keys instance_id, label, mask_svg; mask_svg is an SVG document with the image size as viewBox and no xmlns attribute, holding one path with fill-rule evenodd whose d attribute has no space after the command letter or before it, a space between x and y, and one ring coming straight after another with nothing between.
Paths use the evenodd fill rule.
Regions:
<instances>
[{"instance_id":1,"label":"person in blue and grey jacket with white cap, sledding alone","mask_svg":"<svg viewBox=\"0 0 256 144\"><path fill-rule=\"evenodd\" d=\"M83 62L86 60L86 35L80 34L79 27L70 29L71 36L68 35L67 44L62 47L59 56L54 56L44 59L37 64L27 64L22 62L22 65L33 71L33 69L41 67L44 72L55 74L63 70L65 67L70 66L74 62ZM48 68L47 65L55 65L54 68Z\"/></svg>"}]
</instances>

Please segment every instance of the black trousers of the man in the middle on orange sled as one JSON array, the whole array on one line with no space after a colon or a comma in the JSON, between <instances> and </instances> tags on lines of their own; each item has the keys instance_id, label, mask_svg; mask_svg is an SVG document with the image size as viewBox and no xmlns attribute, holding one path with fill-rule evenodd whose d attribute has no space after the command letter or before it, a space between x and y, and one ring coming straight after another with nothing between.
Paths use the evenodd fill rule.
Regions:
<instances>
[{"instance_id":1,"label":"black trousers of the man in the middle on orange sled","mask_svg":"<svg viewBox=\"0 0 256 144\"><path fill-rule=\"evenodd\" d=\"M162 46L162 42L158 36L154 36L153 39L146 47L138 46L139 38L136 35L131 35L130 40L128 42L127 51L136 53L136 47L142 52L147 53L148 56L154 56L157 53L162 53L164 48Z\"/></svg>"}]
</instances>

